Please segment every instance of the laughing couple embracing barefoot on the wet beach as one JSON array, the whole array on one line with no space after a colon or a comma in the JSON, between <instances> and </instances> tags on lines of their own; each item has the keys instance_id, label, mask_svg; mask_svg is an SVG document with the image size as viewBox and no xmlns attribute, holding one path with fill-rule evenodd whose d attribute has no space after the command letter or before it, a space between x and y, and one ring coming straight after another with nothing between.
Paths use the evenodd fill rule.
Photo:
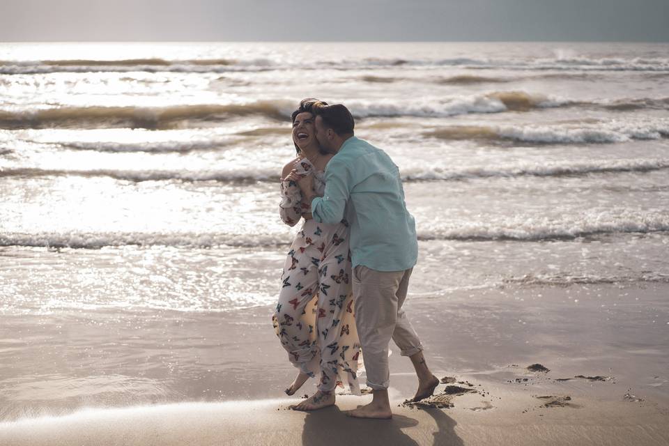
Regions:
<instances>
[{"instance_id":1,"label":"laughing couple embracing barefoot on the wet beach","mask_svg":"<svg viewBox=\"0 0 669 446\"><path fill-rule=\"evenodd\" d=\"M272 316L299 369L286 393L318 375L318 391L291 408L332 406L338 384L360 394L362 353L373 399L348 415L390 418L390 339L415 368L414 401L430 397L439 383L402 309L418 244L399 169L384 151L354 136L344 105L305 99L292 121L298 157L282 172L279 211L286 224L300 218L304 224L286 257Z\"/></svg>"}]
</instances>

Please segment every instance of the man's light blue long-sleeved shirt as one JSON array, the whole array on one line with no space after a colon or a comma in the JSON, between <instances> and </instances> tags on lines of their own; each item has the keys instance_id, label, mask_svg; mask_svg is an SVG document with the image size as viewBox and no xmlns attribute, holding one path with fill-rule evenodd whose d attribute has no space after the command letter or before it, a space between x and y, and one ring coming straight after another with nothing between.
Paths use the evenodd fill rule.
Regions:
<instances>
[{"instance_id":1,"label":"man's light blue long-sleeved shirt","mask_svg":"<svg viewBox=\"0 0 669 446\"><path fill-rule=\"evenodd\" d=\"M351 228L353 268L408 270L416 264L418 242L406 209L399 169L367 141L351 137L325 167L325 194L312 201L316 222Z\"/></svg>"}]
</instances>

